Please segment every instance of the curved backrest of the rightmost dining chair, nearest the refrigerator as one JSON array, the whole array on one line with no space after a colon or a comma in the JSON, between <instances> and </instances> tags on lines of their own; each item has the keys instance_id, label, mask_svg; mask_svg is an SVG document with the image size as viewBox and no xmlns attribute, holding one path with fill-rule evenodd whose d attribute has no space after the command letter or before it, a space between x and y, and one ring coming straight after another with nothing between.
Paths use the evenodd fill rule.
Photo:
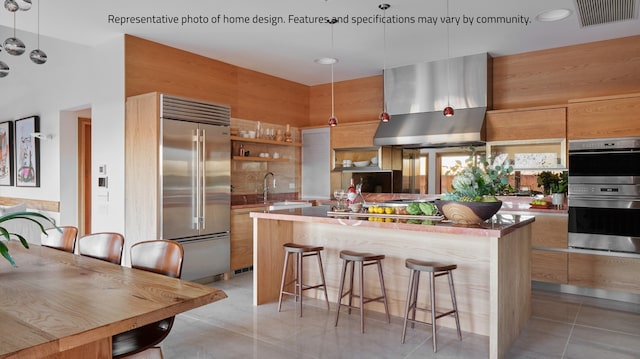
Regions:
<instances>
[{"instance_id":1,"label":"curved backrest of the rightmost dining chair, nearest the refrigerator","mask_svg":"<svg viewBox=\"0 0 640 359\"><path fill-rule=\"evenodd\" d=\"M184 250L175 241L155 240L131 246L131 267L173 278L182 275Z\"/></svg>"}]
</instances>

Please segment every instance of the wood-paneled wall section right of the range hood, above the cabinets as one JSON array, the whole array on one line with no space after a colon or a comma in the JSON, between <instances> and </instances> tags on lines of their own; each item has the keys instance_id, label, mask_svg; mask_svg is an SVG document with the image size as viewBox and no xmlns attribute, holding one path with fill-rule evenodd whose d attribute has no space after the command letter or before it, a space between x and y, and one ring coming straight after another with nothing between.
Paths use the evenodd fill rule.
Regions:
<instances>
[{"instance_id":1,"label":"wood-paneled wall section right of the range hood, above the cabinets","mask_svg":"<svg viewBox=\"0 0 640 359\"><path fill-rule=\"evenodd\" d=\"M640 92L640 36L493 59L493 107Z\"/></svg>"}]
</instances>

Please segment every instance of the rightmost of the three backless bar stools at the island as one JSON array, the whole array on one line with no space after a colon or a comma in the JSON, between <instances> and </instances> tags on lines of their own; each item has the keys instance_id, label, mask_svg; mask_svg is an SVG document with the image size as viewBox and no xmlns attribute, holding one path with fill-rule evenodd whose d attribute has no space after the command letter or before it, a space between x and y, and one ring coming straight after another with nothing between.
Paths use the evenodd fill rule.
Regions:
<instances>
[{"instance_id":1,"label":"rightmost of the three backless bar stools at the island","mask_svg":"<svg viewBox=\"0 0 640 359\"><path fill-rule=\"evenodd\" d=\"M407 304L404 312L404 325L402 326L402 343L404 344L404 337L407 332L407 322L411 322L411 327L414 327L415 323L422 323L431 325L431 335L433 336L433 352L438 350L436 343L436 320L447 315L454 316L456 320L456 327L458 329L458 339L462 340L462 333L460 332L460 320L458 318L458 305L456 303L456 292L453 287L453 277L451 271L458 268L455 264L440 264L434 262L425 262L417 259L407 259L405 266L411 270L411 278L409 279L409 290L407 292ZM418 284L420 284L420 272L429 273L429 295L431 308L418 308ZM438 313L436 311L436 277L446 275L449 278L449 293L451 295L451 304L453 309ZM416 320L416 310L426 311L431 313L431 323ZM412 312L411 319L409 319L409 312Z\"/></svg>"}]
</instances>

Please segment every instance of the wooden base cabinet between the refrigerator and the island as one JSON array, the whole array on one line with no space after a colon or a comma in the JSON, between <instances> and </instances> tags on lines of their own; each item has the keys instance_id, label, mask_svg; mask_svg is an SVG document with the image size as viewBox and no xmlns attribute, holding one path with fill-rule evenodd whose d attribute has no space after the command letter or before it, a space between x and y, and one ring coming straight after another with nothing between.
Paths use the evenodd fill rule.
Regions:
<instances>
[{"instance_id":1,"label":"wooden base cabinet between the refrigerator and the island","mask_svg":"<svg viewBox=\"0 0 640 359\"><path fill-rule=\"evenodd\" d=\"M231 271L253 266L252 211L262 212L265 206L231 210Z\"/></svg>"}]
</instances>

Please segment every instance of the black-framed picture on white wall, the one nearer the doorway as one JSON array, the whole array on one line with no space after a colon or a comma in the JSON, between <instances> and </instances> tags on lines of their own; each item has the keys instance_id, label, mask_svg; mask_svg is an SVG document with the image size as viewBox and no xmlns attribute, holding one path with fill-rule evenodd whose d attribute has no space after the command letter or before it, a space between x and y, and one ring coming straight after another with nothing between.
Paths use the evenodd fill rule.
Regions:
<instances>
[{"instance_id":1,"label":"black-framed picture on white wall, the one nearer the doorway","mask_svg":"<svg viewBox=\"0 0 640 359\"><path fill-rule=\"evenodd\" d=\"M40 187L40 141L33 136L40 131L38 116L16 120L16 186Z\"/></svg>"}]
</instances>

